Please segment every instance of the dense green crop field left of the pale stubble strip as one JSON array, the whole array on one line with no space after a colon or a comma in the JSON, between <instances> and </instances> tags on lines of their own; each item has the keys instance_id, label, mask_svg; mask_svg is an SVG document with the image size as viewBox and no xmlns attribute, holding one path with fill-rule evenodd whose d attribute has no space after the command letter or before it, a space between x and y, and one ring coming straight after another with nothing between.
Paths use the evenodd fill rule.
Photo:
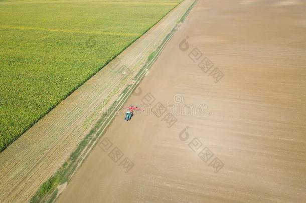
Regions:
<instances>
[{"instance_id":1,"label":"dense green crop field left of the pale stubble strip","mask_svg":"<svg viewBox=\"0 0 306 203\"><path fill-rule=\"evenodd\" d=\"M0 151L181 0L0 0Z\"/></svg>"}]
</instances>

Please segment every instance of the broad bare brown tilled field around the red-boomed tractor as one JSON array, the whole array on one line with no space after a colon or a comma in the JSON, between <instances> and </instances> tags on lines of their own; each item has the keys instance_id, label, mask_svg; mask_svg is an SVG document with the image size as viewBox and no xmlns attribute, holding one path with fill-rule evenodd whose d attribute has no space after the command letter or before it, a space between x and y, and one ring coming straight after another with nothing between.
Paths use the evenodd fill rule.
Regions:
<instances>
[{"instance_id":1,"label":"broad bare brown tilled field around the red-boomed tractor","mask_svg":"<svg viewBox=\"0 0 306 203\"><path fill-rule=\"evenodd\" d=\"M206 114L174 113L170 128L164 115L117 116L58 201L304 202L305 9L302 1L199 1L127 104L140 106L147 93L156 98L148 106L176 104L179 94L180 109L206 105ZM214 63L207 73L189 58L194 48ZM215 67L218 83L208 76ZM196 152L194 138L203 143ZM115 163L116 146L124 155ZM134 164L127 173L125 157ZM212 167L215 157L222 168Z\"/></svg>"}]
</instances>

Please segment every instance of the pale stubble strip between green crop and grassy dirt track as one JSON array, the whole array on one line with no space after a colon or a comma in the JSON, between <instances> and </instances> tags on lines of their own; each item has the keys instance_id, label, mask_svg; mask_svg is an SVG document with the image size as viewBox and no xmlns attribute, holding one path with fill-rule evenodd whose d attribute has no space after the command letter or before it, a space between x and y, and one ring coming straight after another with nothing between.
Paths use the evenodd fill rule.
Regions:
<instances>
[{"instance_id":1,"label":"pale stubble strip between green crop and grassy dirt track","mask_svg":"<svg viewBox=\"0 0 306 203\"><path fill-rule=\"evenodd\" d=\"M154 56L152 52L164 44L165 38L193 2L192 0L182 2L161 22L0 153L1 202L21 202L31 199L39 186L48 180L76 150L78 143L88 133L92 133L90 130L98 119L103 118L108 108L114 102L119 103L126 97L129 90L125 92L124 90L139 82L141 74L145 71L142 68L148 58ZM96 41L97 39L92 39L88 43L95 44ZM100 49L107 51L108 48ZM108 124L111 117L106 119L102 119L101 125ZM92 143L93 140L88 142ZM83 156L90 151L91 146L84 146Z\"/></svg>"}]
</instances>

